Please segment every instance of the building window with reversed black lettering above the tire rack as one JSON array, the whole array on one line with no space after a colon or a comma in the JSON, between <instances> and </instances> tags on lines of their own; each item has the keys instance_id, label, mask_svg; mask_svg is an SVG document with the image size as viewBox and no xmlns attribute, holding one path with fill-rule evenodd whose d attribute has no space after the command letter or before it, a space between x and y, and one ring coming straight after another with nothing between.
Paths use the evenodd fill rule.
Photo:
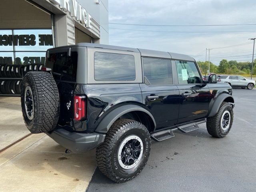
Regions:
<instances>
[{"instance_id":1,"label":"building window with reversed black lettering above the tire rack","mask_svg":"<svg viewBox=\"0 0 256 192\"><path fill-rule=\"evenodd\" d=\"M0 64L44 64L52 47L51 29L0 30Z\"/></svg>"}]
</instances>

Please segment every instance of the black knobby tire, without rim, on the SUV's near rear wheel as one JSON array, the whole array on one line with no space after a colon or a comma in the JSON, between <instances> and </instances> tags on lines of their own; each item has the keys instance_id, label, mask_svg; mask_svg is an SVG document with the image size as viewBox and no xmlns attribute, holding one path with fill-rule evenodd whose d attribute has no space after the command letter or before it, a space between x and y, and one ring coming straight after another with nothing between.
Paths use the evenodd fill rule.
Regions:
<instances>
[{"instance_id":1,"label":"black knobby tire, without rim, on the SUV's near rear wheel","mask_svg":"<svg viewBox=\"0 0 256 192\"><path fill-rule=\"evenodd\" d=\"M124 169L118 163L118 148L130 135L140 137L143 143L143 154L138 164L131 169ZM105 141L96 150L97 165L100 171L117 183L135 178L144 168L150 154L151 139L148 129L140 122L121 119L116 120L108 130Z\"/></svg>"}]
</instances>

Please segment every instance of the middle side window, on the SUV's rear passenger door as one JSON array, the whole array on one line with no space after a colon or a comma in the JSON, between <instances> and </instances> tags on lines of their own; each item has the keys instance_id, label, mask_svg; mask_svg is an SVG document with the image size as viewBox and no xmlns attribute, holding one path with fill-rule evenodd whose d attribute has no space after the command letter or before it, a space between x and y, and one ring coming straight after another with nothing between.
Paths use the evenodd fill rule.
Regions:
<instances>
[{"instance_id":1,"label":"middle side window, on the SUV's rear passenger door","mask_svg":"<svg viewBox=\"0 0 256 192\"><path fill-rule=\"evenodd\" d=\"M143 58L144 82L148 85L171 85L171 60Z\"/></svg>"}]
</instances>

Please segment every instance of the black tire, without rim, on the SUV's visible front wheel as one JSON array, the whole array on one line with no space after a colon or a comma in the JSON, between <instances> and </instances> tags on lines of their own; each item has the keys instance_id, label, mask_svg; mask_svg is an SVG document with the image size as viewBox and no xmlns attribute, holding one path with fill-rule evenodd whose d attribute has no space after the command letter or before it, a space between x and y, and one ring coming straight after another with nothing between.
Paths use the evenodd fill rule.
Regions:
<instances>
[{"instance_id":1,"label":"black tire, without rim, on the SUV's visible front wheel","mask_svg":"<svg viewBox=\"0 0 256 192\"><path fill-rule=\"evenodd\" d=\"M230 125L229 125L228 130L224 131L221 128L221 123L222 123L221 117L222 117L222 114L226 110L228 110L228 112L230 112ZM234 116L234 114L233 114L232 105L229 104L228 102L222 102L218 112L214 116L207 118L206 127L207 127L208 133L217 138L225 137L232 127L233 116Z\"/></svg>"}]
</instances>

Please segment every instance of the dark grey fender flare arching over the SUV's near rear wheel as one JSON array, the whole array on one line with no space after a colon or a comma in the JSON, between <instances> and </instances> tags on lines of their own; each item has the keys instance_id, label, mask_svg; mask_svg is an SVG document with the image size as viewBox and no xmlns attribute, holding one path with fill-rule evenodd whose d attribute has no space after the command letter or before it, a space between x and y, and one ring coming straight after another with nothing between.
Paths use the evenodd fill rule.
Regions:
<instances>
[{"instance_id":1,"label":"dark grey fender flare arching over the SUV's near rear wheel","mask_svg":"<svg viewBox=\"0 0 256 192\"><path fill-rule=\"evenodd\" d=\"M111 127L111 125L118 119L120 118L120 116L128 113L128 112L132 112L132 111L142 111L145 112L146 114L148 114L150 116L150 118L152 118L153 122L154 122L154 126L156 128L156 121L154 119L154 117L152 116L152 114L147 111L146 109L142 108L141 106L138 105L123 105L120 106L114 110L112 110L111 112L109 112L109 114L107 114L103 120L101 120L101 122L98 124L95 132L99 132L99 133L106 133L108 132L109 128Z\"/></svg>"}]
</instances>

